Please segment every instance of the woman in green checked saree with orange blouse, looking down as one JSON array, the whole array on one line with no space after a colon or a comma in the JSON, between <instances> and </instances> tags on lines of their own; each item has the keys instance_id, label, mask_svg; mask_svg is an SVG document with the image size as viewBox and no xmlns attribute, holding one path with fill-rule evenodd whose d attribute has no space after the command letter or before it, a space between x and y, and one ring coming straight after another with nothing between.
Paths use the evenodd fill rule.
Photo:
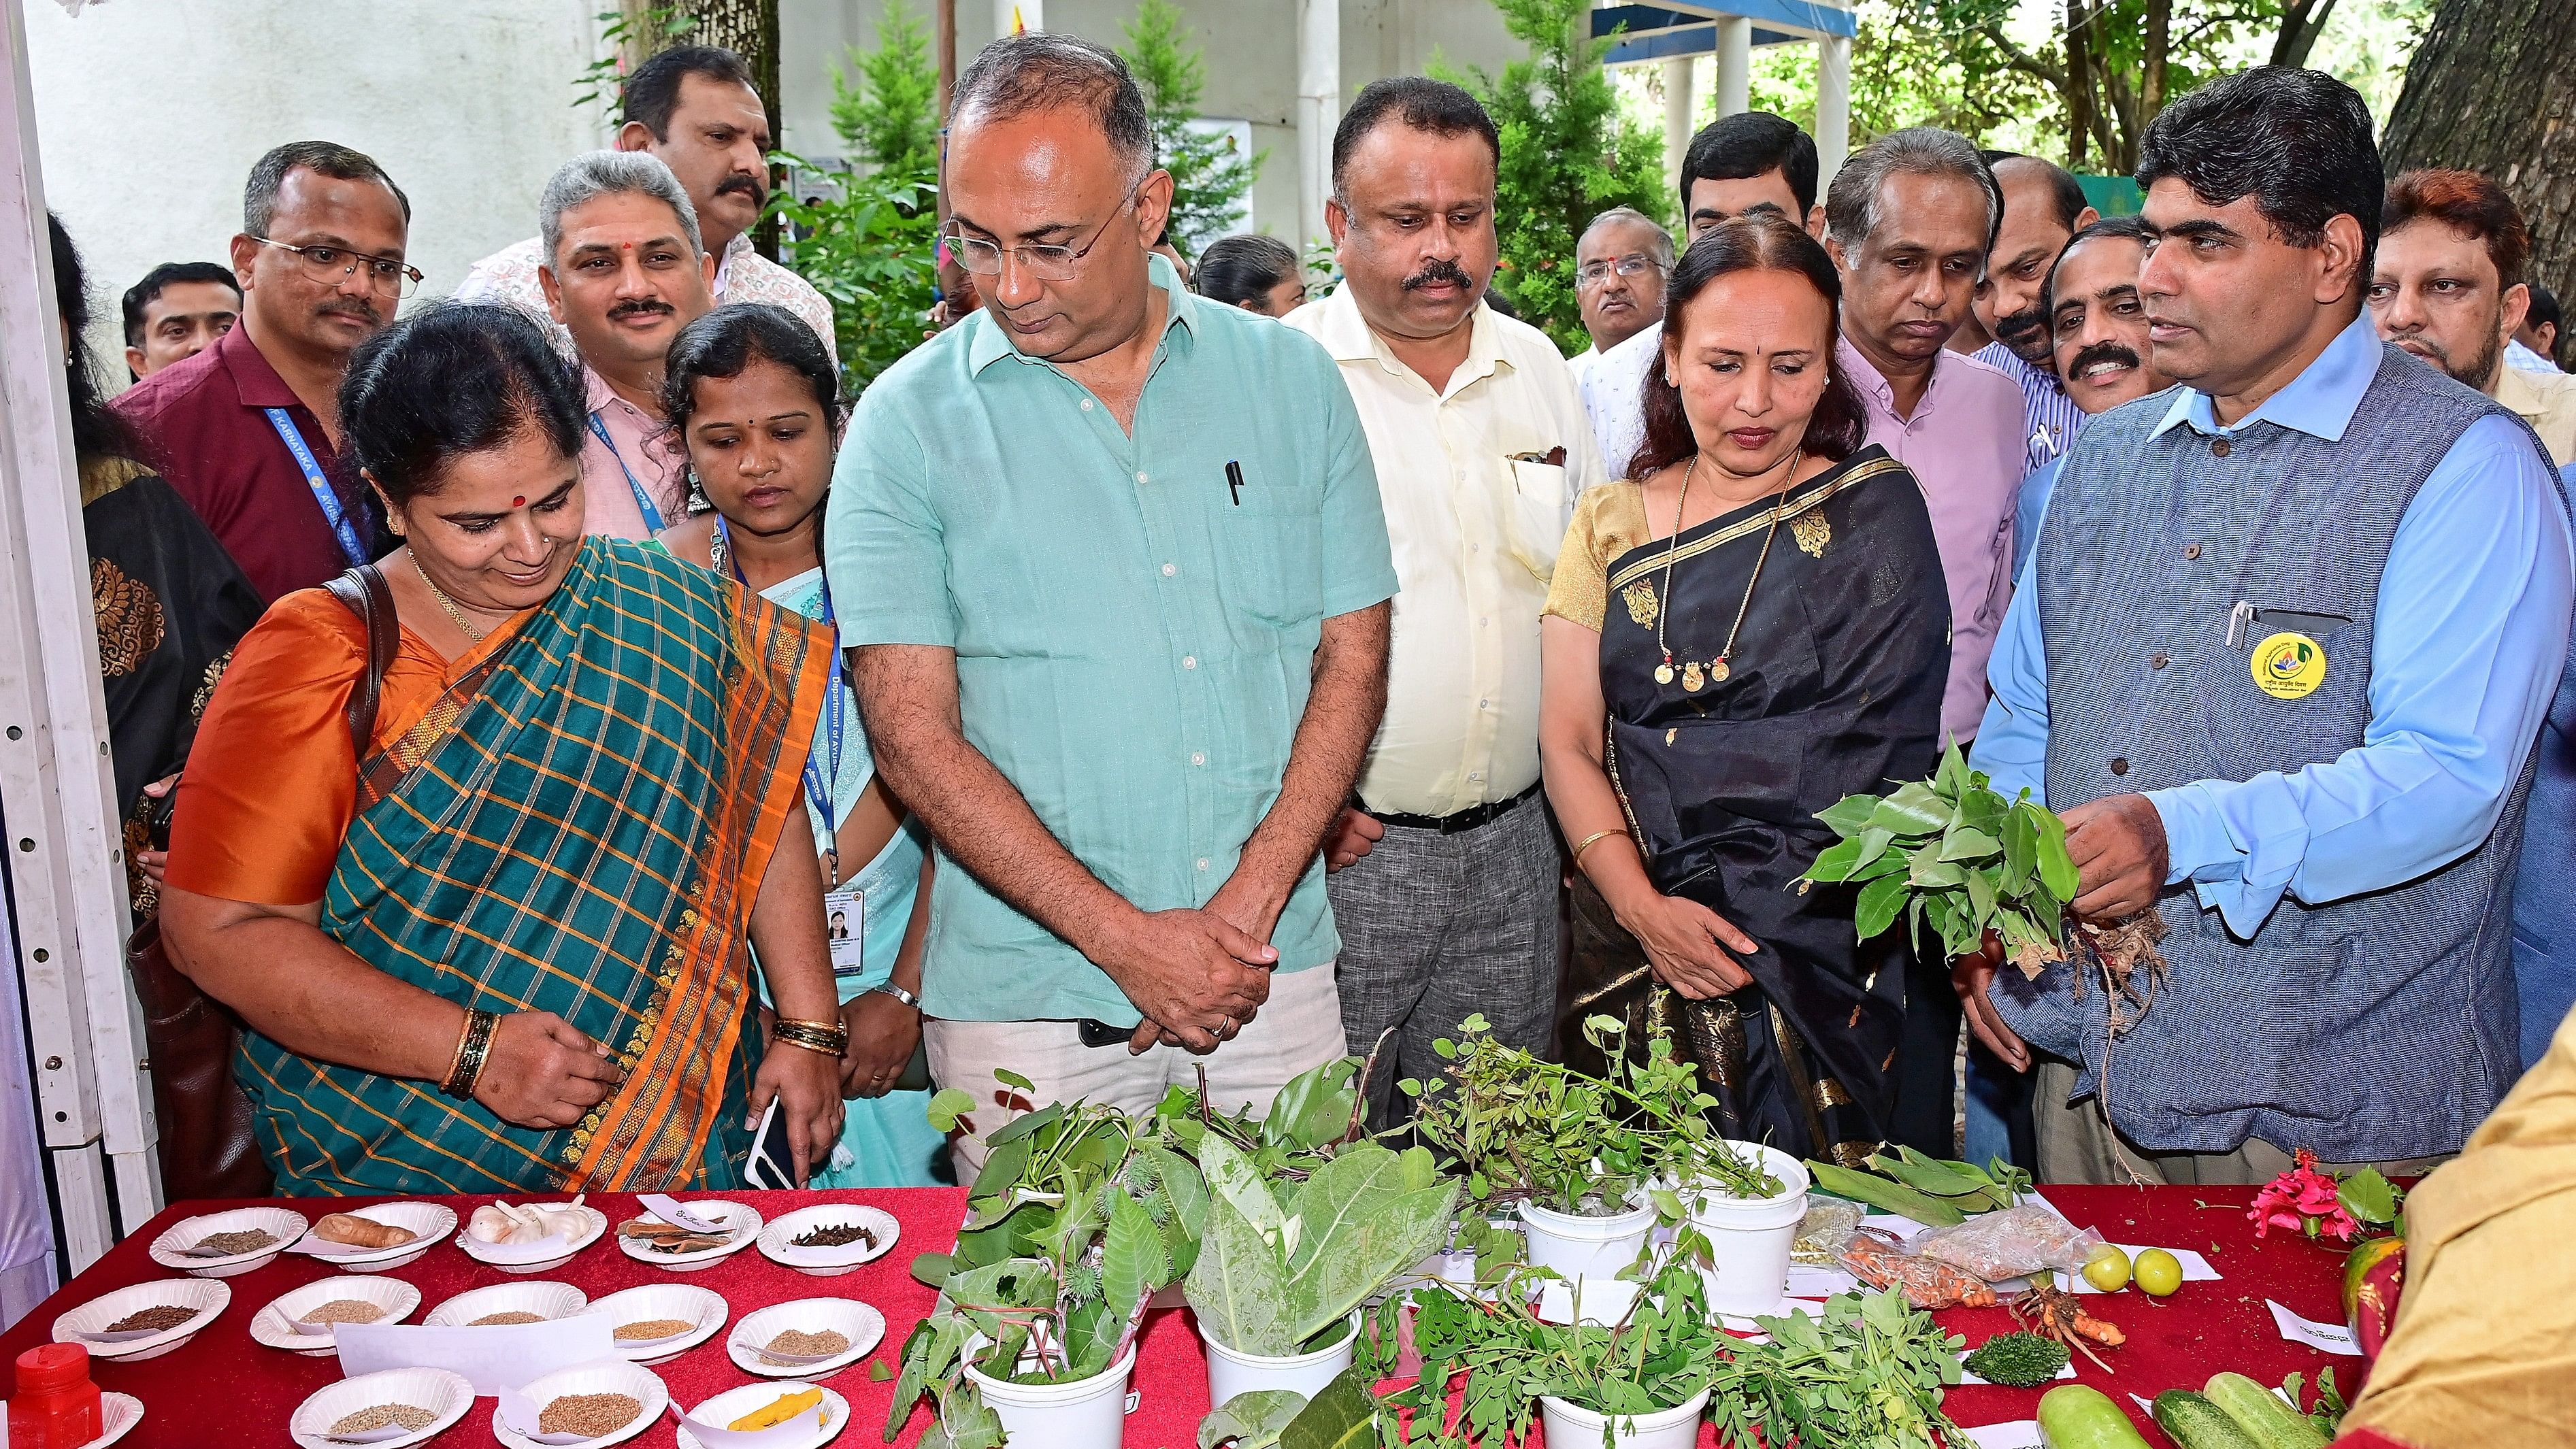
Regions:
<instances>
[{"instance_id":1,"label":"woman in green checked saree with orange blouse, looking down","mask_svg":"<svg viewBox=\"0 0 2576 1449\"><path fill-rule=\"evenodd\" d=\"M340 422L404 540L374 731L353 607L278 600L206 710L162 906L250 1027L278 1186L729 1186L770 1099L801 1176L840 1135L840 1027L814 854L778 842L827 636L582 538L580 389L515 311L389 327Z\"/></svg>"}]
</instances>

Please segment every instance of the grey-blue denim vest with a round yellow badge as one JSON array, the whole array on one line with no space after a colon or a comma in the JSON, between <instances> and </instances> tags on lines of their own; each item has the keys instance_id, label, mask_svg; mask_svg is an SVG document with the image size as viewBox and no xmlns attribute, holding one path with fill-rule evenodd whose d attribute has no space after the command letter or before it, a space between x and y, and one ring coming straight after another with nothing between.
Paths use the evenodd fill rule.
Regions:
<instances>
[{"instance_id":1,"label":"grey-blue denim vest with a round yellow badge","mask_svg":"<svg viewBox=\"0 0 2576 1449\"><path fill-rule=\"evenodd\" d=\"M2040 535L2048 803L2293 772L2362 744L2380 569L2416 489L2501 407L2385 347L2339 443L2259 422L2177 425L2172 394L2097 417ZM2257 613L2241 618L2241 605ZM2254 646L2300 633L2326 677L2257 687ZM2419 880L2311 906L2282 896L2236 939L2190 885L2156 909L2166 970L2110 1045L2112 1122L2143 1148L2246 1138L2326 1161L2458 1150L2517 1076L2512 880L2530 764L2478 849ZM2009 973L2007 973L2009 975ZM2105 1078L2105 1001L2069 968L2004 991L2038 1048Z\"/></svg>"}]
</instances>

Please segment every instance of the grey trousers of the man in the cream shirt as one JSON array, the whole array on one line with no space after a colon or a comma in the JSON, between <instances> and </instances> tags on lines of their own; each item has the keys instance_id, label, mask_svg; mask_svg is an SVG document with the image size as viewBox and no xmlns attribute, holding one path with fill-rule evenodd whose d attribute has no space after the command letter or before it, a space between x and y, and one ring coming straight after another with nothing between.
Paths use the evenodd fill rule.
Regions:
<instances>
[{"instance_id":1,"label":"grey trousers of the man in the cream shirt","mask_svg":"<svg viewBox=\"0 0 2576 1449\"><path fill-rule=\"evenodd\" d=\"M1484 1014L1510 1048L1548 1050L1556 1027L1564 885L1543 795L1481 829L1386 826L1355 865L1324 878L1342 932L1342 1032L1352 1055L1396 1037L1368 1081L1368 1125L1412 1117L1399 1078L1443 1071L1435 1037Z\"/></svg>"}]
</instances>

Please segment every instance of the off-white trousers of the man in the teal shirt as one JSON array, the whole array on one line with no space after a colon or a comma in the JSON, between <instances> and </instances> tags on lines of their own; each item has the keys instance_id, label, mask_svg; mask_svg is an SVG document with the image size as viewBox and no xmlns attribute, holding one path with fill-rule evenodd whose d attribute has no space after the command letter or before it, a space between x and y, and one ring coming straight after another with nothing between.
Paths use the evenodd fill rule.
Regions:
<instances>
[{"instance_id":1,"label":"off-white trousers of the man in the teal shirt","mask_svg":"<svg viewBox=\"0 0 2576 1449\"><path fill-rule=\"evenodd\" d=\"M984 1166L984 1135L1002 1130L1020 1112L1048 1102L1097 1102L1121 1112L1151 1112L1164 1089L1198 1089L1208 1073L1208 1104L1218 1112L1249 1107L1270 1112L1288 1078L1342 1055L1342 993L1332 963L1285 970L1270 978L1270 1001L1252 1024L1208 1055L1151 1045L1128 1055L1126 1042L1082 1045L1074 1022L922 1022L930 1048L930 1081L961 1086L976 1099L966 1130L948 1143L958 1181L974 1181ZM1025 1076L1033 1091L1002 1089L992 1068ZM1012 1102L1005 1102L1010 1096Z\"/></svg>"}]
</instances>

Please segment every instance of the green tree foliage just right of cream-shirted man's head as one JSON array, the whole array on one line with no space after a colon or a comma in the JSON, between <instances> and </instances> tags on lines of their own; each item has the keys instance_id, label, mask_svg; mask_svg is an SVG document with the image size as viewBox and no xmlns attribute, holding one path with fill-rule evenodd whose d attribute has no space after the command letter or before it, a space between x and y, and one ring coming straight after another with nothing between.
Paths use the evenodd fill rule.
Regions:
<instances>
[{"instance_id":1,"label":"green tree foliage just right of cream-shirted man's head","mask_svg":"<svg viewBox=\"0 0 2576 1449\"><path fill-rule=\"evenodd\" d=\"M1620 116L1602 69L1610 44L1592 39L1592 0L1494 0L1494 8L1530 54L1502 75L1481 67L1445 75L1476 93L1502 131L1494 188L1502 268L1494 281L1522 322L1579 353L1592 337L1574 301L1574 242L1613 206L1672 216L1664 139Z\"/></svg>"}]
</instances>

